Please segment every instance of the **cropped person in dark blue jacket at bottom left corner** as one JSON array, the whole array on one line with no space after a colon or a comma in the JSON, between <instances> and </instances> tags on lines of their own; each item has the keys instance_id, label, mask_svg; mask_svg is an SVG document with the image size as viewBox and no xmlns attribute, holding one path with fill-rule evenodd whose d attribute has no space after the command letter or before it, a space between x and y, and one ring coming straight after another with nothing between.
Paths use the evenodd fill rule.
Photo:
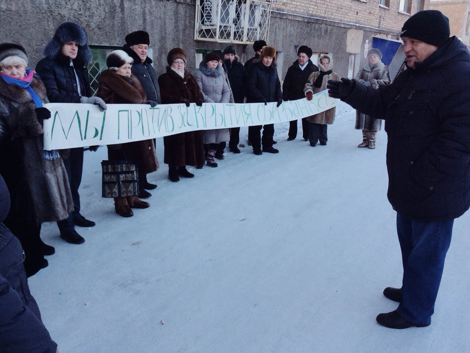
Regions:
<instances>
[{"instance_id":1,"label":"cropped person in dark blue jacket at bottom left corner","mask_svg":"<svg viewBox=\"0 0 470 353\"><path fill-rule=\"evenodd\" d=\"M21 243L2 223L9 208L8 188L0 175L0 352L55 353L57 344L29 290Z\"/></svg>"}]
</instances>

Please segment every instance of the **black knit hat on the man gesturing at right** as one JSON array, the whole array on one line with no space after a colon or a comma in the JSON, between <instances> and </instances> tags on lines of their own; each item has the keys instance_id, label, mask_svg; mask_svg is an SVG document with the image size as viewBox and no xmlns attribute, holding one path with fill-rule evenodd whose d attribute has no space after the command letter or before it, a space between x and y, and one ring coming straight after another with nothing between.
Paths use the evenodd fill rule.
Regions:
<instances>
[{"instance_id":1,"label":"black knit hat on the man gesturing at right","mask_svg":"<svg viewBox=\"0 0 470 353\"><path fill-rule=\"evenodd\" d=\"M450 36L449 19L438 10L424 10L407 19L401 37L421 40L442 47Z\"/></svg>"}]
</instances>

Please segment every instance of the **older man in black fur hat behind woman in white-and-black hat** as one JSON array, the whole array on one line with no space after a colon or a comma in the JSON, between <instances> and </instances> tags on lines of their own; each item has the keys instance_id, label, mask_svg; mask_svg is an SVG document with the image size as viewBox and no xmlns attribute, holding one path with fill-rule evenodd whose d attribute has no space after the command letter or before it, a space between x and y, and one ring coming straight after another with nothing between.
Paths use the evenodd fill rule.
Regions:
<instances>
[{"instance_id":1,"label":"older man in black fur hat behind woman in white-and-black hat","mask_svg":"<svg viewBox=\"0 0 470 353\"><path fill-rule=\"evenodd\" d=\"M122 50L124 50L131 58L134 59L131 71L133 76L139 79L145 94L147 95L147 99L149 101L157 102L157 104L161 104L162 99L160 98L160 86L158 86L158 78L155 74L155 70L151 65L153 61L147 55L149 51L149 45L149 33L146 31L135 31L125 36L125 45L122 47ZM150 194L145 189L152 190L157 188L157 185L150 184L147 181L147 174L145 173L141 173L139 178L139 197L147 198L152 196L152 194Z\"/></svg>"}]
</instances>

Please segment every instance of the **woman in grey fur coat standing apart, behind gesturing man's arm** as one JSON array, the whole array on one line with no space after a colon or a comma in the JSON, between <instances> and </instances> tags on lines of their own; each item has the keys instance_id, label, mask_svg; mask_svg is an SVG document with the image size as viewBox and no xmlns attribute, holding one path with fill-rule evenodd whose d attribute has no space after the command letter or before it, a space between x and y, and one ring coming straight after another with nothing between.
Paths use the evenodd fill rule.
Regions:
<instances>
[{"instance_id":1,"label":"woman in grey fur coat standing apart, behind gesturing man's arm","mask_svg":"<svg viewBox=\"0 0 470 353\"><path fill-rule=\"evenodd\" d=\"M390 85L388 66L382 63L382 52L376 48L368 52L368 62L359 70L356 76L358 83L378 89ZM356 130L362 130L362 142L357 147L376 148L377 131L382 127L382 119L375 119L356 112Z\"/></svg>"}]
</instances>

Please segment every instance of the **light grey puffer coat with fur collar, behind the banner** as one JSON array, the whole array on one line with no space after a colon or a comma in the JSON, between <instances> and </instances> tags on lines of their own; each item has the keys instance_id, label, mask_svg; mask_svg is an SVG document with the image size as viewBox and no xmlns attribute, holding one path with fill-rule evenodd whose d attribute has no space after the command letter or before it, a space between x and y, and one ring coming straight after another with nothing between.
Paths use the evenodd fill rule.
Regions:
<instances>
[{"instance_id":1,"label":"light grey puffer coat with fur collar, behind the banner","mask_svg":"<svg viewBox=\"0 0 470 353\"><path fill-rule=\"evenodd\" d=\"M224 69L220 65L210 69L202 62L196 71L196 81L204 95L204 103L229 103L230 88L227 85ZM230 141L228 129L212 129L203 131L203 142L220 143Z\"/></svg>"}]
</instances>

